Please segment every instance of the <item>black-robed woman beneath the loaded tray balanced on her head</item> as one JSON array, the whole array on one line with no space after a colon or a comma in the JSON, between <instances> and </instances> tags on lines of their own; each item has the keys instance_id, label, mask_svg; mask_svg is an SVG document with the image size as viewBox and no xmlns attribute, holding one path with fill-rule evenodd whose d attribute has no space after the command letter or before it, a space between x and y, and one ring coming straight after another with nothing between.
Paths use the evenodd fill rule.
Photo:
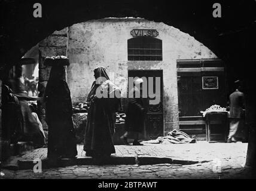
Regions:
<instances>
[{"instance_id":1,"label":"black-robed woman beneath the loaded tray balanced on her head","mask_svg":"<svg viewBox=\"0 0 256 191\"><path fill-rule=\"evenodd\" d=\"M48 124L48 158L72 158L77 155L72 102L65 79L65 67L53 66L45 88Z\"/></svg>"}]
</instances>

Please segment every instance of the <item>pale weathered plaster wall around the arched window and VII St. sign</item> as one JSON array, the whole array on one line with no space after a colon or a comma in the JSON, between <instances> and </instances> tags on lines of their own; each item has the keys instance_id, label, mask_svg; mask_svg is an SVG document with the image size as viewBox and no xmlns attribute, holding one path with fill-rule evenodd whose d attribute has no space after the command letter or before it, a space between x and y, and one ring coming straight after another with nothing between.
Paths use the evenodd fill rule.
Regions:
<instances>
[{"instance_id":1,"label":"pale weathered plaster wall around the arched window and VII St. sign","mask_svg":"<svg viewBox=\"0 0 256 191\"><path fill-rule=\"evenodd\" d=\"M127 39L132 29L156 29L163 42L163 61L128 61ZM85 100L94 80L93 69L105 66L127 94L127 70L162 69L164 130L178 128L177 59L216 58L202 43L164 23L145 19L101 19L74 24L68 30L68 85L73 101Z\"/></svg>"}]
</instances>

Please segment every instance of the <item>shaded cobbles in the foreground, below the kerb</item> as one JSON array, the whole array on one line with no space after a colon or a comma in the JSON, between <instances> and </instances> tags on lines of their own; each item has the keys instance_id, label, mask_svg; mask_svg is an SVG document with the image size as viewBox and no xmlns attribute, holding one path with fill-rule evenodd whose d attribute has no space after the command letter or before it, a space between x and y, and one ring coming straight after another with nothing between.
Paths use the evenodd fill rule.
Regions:
<instances>
[{"instance_id":1,"label":"shaded cobbles in the foreground, below the kerb","mask_svg":"<svg viewBox=\"0 0 256 191\"><path fill-rule=\"evenodd\" d=\"M2 178L34 179L34 178L108 178L108 179L150 179L150 178L251 178L251 171L239 165L223 164L216 170L215 162L203 164L178 165L75 165L64 168L50 168L35 173L32 170L3 170ZM0 177L1 179L1 177Z\"/></svg>"}]
</instances>

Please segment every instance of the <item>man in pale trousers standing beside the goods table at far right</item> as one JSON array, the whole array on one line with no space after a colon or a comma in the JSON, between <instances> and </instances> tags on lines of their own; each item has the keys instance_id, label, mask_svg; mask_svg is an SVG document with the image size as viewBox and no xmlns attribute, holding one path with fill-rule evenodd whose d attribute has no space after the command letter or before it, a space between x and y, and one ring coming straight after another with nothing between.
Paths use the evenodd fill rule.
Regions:
<instances>
[{"instance_id":1,"label":"man in pale trousers standing beside the goods table at far right","mask_svg":"<svg viewBox=\"0 0 256 191\"><path fill-rule=\"evenodd\" d=\"M241 82L239 80L234 82L236 90L230 94L230 130L227 138L227 143L236 142L242 137L241 131L243 128L242 117L243 108L245 107L245 97L240 91L242 89Z\"/></svg>"}]
</instances>

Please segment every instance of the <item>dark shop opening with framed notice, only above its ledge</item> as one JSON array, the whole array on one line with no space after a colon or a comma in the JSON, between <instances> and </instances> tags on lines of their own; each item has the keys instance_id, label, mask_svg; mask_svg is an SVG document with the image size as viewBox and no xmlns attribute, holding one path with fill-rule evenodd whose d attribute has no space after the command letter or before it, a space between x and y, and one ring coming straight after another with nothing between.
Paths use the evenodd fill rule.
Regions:
<instances>
[{"instance_id":1,"label":"dark shop opening with framed notice, only above its ledge","mask_svg":"<svg viewBox=\"0 0 256 191\"><path fill-rule=\"evenodd\" d=\"M179 116L202 116L213 104L227 106L224 63L212 60L178 60Z\"/></svg>"}]
</instances>

